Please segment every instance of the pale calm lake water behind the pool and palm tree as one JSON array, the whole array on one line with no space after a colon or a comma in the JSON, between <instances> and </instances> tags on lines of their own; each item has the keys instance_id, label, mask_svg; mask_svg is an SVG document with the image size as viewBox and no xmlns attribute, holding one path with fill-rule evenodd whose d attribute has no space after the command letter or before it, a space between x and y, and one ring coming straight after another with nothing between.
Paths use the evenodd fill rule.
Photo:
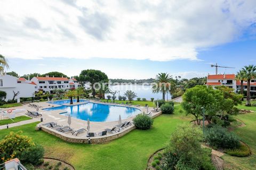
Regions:
<instances>
[{"instance_id":1,"label":"pale calm lake water behind the pool and palm tree","mask_svg":"<svg viewBox=\"0 0 256 170\"><path fill-rule=\"evenodd\" d=\"M111 90L116 90L116 99L118 100L118 91L120 93L120 96L124 96L124 93L126 90L132 90L134 91L138 97L140 98L146 98L147 100L150 100L151 97L155 98L155 99L162 99L163 95L161 93L159 94L153 94L152 90L151 90L151 86L142 86L141 84L139 85L111 85L109 86L109 88ZM107 97L108 94L105 95L105 97ZM111 95L110 95L111 96ZM166 98L166 95L165 95ZM168 99L170 99L171 96L170 94L168 94ZM137 100L137 98L134 98L134 100Z\"/></svg>"}]
</instances>

